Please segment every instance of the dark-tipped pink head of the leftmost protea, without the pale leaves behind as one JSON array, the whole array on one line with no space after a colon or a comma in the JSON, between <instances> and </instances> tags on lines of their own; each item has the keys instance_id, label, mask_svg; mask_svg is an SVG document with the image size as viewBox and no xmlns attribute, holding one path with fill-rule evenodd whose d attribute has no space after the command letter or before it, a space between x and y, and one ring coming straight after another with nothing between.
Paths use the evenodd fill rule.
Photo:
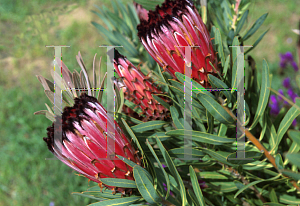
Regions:
<instances>
[{"instance_id":1,"label":"dark-tipped pink head of the leftmost protea, without the pale leaves behind","mask_svg":"<svg viewBox=\"0 0 300 206\"><path fill-rule=\"evenodd\" d=\"M99 183L99 178L119 178L134 180L132 168L126 165L117 156L117 160L107 157L107 128L113 131L115 124L115 154L123 156L140 165L141 160L137 151L131 145L129 139L122 132L119 125L107 121L106 110L96 98L85 93L80 98L75 98L72 107L65 107L61 117L56 117L62 128L62 141L54 138L58 131L54 130L54 123L47 128L47 136L44 141L49 150L63 163L86 176L90 180ZM54 141L57 147L54 146ZM107 159L104 159L107 158ZM104 159L104 160L103 160ZM130 188L116 188L104 185L114 192L122 194L130 193Z\"/></svg>"}]
</instances>

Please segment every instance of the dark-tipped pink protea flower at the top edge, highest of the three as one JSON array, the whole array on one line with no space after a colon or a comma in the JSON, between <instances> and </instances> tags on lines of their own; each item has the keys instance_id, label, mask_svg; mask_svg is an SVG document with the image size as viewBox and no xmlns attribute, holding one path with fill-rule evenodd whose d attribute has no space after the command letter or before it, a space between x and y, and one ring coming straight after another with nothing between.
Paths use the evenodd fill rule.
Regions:
<instances>
[{"instance_id":1,"label":"dark-tipped pink protea flower at the top edge, highest of the three","mask_svg":"<svg viewBox=\"0 0 300 206\"><path fill-rule=\"evenodd\" d=\"M155 11L150 10L148 17L137 29L149 54L176 78L175 72L185 71L185 48L180 46L198 46L191 48L192 78L209 87L207 75L216 75L218 62L208 30L192 2L166 0Z\"/></svg>"}]
</instances>

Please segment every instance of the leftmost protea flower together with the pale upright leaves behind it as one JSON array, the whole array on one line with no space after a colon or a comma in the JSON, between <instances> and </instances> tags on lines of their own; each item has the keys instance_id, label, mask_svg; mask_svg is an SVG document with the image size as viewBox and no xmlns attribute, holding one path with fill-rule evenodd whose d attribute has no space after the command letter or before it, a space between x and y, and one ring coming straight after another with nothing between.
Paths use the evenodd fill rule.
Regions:
<instances>
[{"instance_id":1,"label":"leftmost protea flower together with the pale upright leaves behind it","mask_svg":"<svg viewBox=\"0 0 300 206\"><path fill-rule=\"evenodd\" d=\"M62 115L55 115L53 108L51 109L47 104L48 110L35 113L45 115L52 122L61 123L61 128L55 130L54 123L48 127L48 137L44 138L44 141L58 159L90 180L99 183L101 189L106 186L113 192L130 193L130 188L115 188L103 185L100 181L101 178L133 180L131 167L122 160L106 157L111 153L110 147L107 146L107 129L113 131L113 124L115 124L115 154L128 158L138 165L141 164L141 160L116 121L107 121L106 110L99 103L103 91L97 94L93 90L93 88L103 87L105 76L102 81L99 79L96 82L97 76L93 68L93 81L90 81L80 53L77 61L82 69L80 74L77 71L71 73L62 62L62 78L56 76L55 87L65 91L62 105L56 105L57 108L63 108ZM96 65L95 58L93 65ZM52 75L54 78L57 74ZM53 82L39 75L37 77L50 101L54 102ZM61 141L54 139L55 134L59 135L59 133L62 134ZM100 158L107 158L107 160ZM113 158L117 159L117 157Z\"/></svg>"}]
</instances>

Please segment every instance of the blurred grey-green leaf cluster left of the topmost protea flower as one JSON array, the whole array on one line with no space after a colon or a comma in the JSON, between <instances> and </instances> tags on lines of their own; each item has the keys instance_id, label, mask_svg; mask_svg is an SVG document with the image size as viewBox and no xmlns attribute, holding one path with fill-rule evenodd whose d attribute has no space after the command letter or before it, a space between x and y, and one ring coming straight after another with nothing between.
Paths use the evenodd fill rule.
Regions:
<instances>
[{"instance_id":1,"label":"blurred grey-green leaf cluster left of the topmost protea flower","mask_svg":"<svg viewBox=\"0 0 300 206\"><path fill-rule=\"evenodd\" d=\"M157 5L156 1L147 1L148 3ZM120 0L113 0L112 5L113 12L97 5L95 7L98 11L92 11L103 21L107 28L94 21L92 21L92 24L110 45L122 45L118 48L119 52L125 55L133 64L138 65L143 62L147 63L149 68L155 68L154 59L144 49L137 36L136 27L140 20L132 3L127 4L127 8L125 8Z\"/></svg>"}]
</instances>

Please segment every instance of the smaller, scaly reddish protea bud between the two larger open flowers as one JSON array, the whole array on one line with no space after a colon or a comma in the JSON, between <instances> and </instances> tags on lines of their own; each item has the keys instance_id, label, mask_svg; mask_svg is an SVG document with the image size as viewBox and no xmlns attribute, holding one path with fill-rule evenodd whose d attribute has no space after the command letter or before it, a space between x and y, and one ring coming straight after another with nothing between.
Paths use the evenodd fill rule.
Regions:
<instances>
[{"instance_id":1,"label":"smaller, scaly reddish protea bud between the two larger open flowers","mask_svg":"<svg viewBox=\"0 0 300 206\"><path fill-rule=\"evenodd\" d=\"M169 117L168 109L163 107L151 95L163 94L150 80L149 76L145 76L140 69L137 69L130 61L115 50L114 67L119 77L118 86L125 92L125 98L134 104L138 105L142 112L140 116L144 115L142 119L156 120L166 119ZM122 86L123 85L123 86ZM162 97L163 99L163 97ZM168 100L163 99L168 102ZM132 115L132 110L125 107L125 113Z\"/></svg>"}]
</instances>

